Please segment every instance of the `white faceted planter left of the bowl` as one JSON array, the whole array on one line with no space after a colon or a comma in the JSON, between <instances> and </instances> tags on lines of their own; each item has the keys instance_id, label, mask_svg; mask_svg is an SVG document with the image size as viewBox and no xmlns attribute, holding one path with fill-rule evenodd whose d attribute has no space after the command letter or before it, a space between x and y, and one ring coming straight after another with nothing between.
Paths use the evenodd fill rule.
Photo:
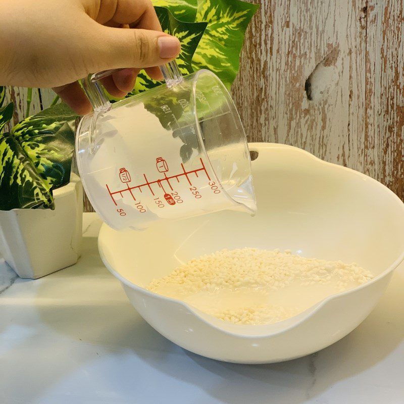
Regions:
<instances>
[{"instance_id":1,"label":"white faceted planter left of the bowl","mask_svg":"<svg viewBox=\"0 0 404 404\"><path fill-rule=\"evenodd\" d=\"M54 211L0 211L0 255L21 278L40 278L75 264L80 256L80 178L72 174L69 184L54 191L54 198Z\"/></svg>"}]
</instances>

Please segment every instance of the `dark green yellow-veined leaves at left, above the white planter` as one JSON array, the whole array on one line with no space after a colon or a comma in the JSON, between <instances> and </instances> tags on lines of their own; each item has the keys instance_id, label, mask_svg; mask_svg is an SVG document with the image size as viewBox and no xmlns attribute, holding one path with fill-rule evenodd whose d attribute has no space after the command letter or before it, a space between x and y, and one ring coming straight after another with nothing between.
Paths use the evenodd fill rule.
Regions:
<instances>
[{"instance_id":1,"label":"dark green yellow-veined leaves at left, above the white planter","mask_svg":"<svg viewBox=\"0 0 404 404\"><path fill-rule=\"evenodd\" d=\"M0 128L13 111L13 103L0 109ZM70 108L58 104L0 134L0 210L54 209L52 190L70 179L74 119Z\"/></svg>"}]
</instances>

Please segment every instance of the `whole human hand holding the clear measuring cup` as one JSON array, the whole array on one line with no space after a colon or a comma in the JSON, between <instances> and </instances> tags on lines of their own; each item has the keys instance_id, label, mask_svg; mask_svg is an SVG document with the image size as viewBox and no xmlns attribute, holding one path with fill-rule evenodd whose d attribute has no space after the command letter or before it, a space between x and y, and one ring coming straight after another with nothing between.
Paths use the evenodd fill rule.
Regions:
<instances>
[{"instance_id":1,"label":"whole human hand holding the clear measuring cup","mask_svg":"<svg viewBox=\"0 0 404 404\"><path fill-rule=\"evenodd\" d=\"M91 105L78 79L124 68L103 79L123 97L141 68L161 80L157 66L180 53L150 0L0 0L0 15L0 84L54 87L79 114Z\"/></svg>"}]
</instances>

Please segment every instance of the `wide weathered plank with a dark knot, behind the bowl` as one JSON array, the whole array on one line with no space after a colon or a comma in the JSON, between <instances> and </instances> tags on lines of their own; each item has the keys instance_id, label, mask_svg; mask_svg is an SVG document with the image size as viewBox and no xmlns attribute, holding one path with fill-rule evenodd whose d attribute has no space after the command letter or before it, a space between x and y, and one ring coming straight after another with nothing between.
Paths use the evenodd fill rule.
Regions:
<instances>
[{"instance_id":1,"label":"wide weathered plank with a dark knot, behind the bowl","mask_svg":"<svg viewBox=\"0 0 404 404\"><path fill-rule=\"evenodd\" d=\"M264 0L233 94L250 140L363 169L366 0Z\"/></svg>"}]
</instances>

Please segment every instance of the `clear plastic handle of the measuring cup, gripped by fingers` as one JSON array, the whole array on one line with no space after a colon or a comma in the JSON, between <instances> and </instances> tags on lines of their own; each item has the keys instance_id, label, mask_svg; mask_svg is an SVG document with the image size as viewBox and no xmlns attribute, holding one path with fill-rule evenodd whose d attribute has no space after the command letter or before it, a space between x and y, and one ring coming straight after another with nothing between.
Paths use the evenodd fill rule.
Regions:
<instances>
[{"instance_id":1,"label":"clear plastic handle of the measuring cup, gripped by fingers","mask_svg":"<svg viewBox=\"0 0 404 404\"><path fill-rule=\"evenodd\" d=\"M99 84L98 80L109 76L112 73L119 72L122 69L105 70L103 72L89 74L86 78L81 80L84 92L89 99L94 111L107 111L111 108L111 103ZM172 87L175 84L182 82L182 75L175 60L160 66L163 74L164 81L167 87Z\"/></svg>"}]
</instances>

